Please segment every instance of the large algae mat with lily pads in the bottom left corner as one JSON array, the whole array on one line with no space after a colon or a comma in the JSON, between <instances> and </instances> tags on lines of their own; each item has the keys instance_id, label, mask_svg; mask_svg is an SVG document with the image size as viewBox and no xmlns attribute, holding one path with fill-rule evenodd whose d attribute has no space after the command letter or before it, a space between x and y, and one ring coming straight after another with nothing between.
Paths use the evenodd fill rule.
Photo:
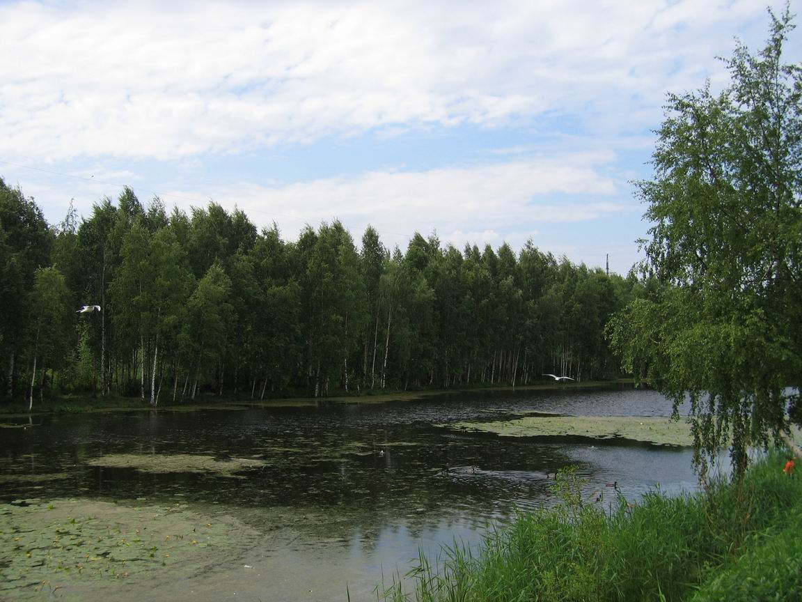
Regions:
<instances>
[{"instance_id":1,"label":"large algae mat with lily pads in the bottom left corner","mask_svg":"<svg viewBox=\"0 0 802 602\"><path fill-rule=\"evenodd\" d=\"M90 591L100 599L104 591L119 596L127 583L190 579L237 559L255 537L237 519L178 504L6 504L0 506L0 600L84 600Z\"/></svg>"}]
</instances>

